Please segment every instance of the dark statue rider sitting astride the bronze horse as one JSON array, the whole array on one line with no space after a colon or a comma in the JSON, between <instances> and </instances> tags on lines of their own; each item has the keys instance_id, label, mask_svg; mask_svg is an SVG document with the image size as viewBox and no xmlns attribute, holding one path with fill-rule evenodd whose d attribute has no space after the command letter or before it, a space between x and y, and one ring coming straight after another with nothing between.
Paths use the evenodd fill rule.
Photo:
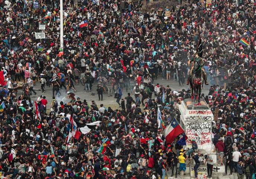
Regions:
<instances>
[{"instance_id":1,"label":"dark statue rider sitting astride the bronze horse","mask_svg":"<svg viewBox=\"0 0 256 179\"><path fill-rule=\"evenodd\" d=\"M188 75L188 81L187 81L187 84L189 84L189 80L192 76L192 74L195 74L195 72L198 72L199 70L201 70L201 74L204 78L204 81L205 81L205 85L208 85L207 83L207 74L203 68L203 65L204 65L204 60L198 56L198 53L195 54L195 58L193 60L189 60L188 61L188 66L190 66L190 63L192 62L192 67L190 69L190 72L189 72L189 75ZM198 64L198 67L196 68L196 63Z\"/></svg>"}]
</instances>

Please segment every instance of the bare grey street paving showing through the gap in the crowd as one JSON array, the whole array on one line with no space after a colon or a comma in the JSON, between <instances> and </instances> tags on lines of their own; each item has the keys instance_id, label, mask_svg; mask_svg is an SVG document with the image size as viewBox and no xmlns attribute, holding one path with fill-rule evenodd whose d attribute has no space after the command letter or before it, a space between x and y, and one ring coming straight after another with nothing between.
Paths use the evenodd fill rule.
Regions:
<instances>
[{"instance_id":1,"label":"bare grey street paving showing through the gap in the crowd","mask_svg":"<svg viewBox=\"0 0 256 179\"><path fill-rule=\"evenodd\" d=\"M162 80L162 79L159 78L158 80L154 80L154 83L155 84L157 84L157 83L163 84L164 87L169 85L172 90L176 90L176 91L179 91L179 90L182 90L182 89L185 89L185 90L188 89L188 85L184 85L184 86L180 87L179 83L177 81L173 81L173 80L168 80L167 81L167 80ZM114 105L114 107L118 107L118 104L116 103L116 99L113 96L108 97L108 95L105 94L105 93L103 93L103 101L99 102L99 100L98 100L99 98L98 98L97 91L96 91L96 84L94 84L93 87L92 87L92 93L95 93L94 96L91 95L92 93L85 93L84 90L83 90L84 87L81 84L79 84L78 86L75 86L75 88L77 90L77 92L75 93L76 98L80 97L81 100L86 99L89 103L91 103L92 100L95 100L97 105L99 105L100 103L103 103L106 106ZM33 95L33 93L32 93L31 99L36 100L38 98L38 96L40 96L40 95L46 96L46 99L48 100L48 104L49 104L49 105L47 105L47 109L49 109L50 108L50 103L52 101L52 86L51 87L46 86L45 87L45 90L46 90L45 93L42 93L41 91L39 91L39 89L41 89L41 84L37 82L36 86L34 86L34 90L36 91L37 94ZM204 89L202 90L202 93L205 93L205 95L206 95L206 94L208 94L208 91L209 91L209 86L204 86ZM60 90L60 92L61 92L61 96L60 97L56 96L56 99L58 100L58 102L60 102L60 101L68 102L69 99L65 98L65 96L67 96L66 90L62 89L62 90ZM74 91L71 89L70 92L74 92ZM18 95L20 95L20 93L21 93L21 90L19 91ZM123 93L123 97L125 97L125 96L127 96L128 92L126 92L125 89L124 89L122 91L122 93Z\"/></svg>"}]
</instances>

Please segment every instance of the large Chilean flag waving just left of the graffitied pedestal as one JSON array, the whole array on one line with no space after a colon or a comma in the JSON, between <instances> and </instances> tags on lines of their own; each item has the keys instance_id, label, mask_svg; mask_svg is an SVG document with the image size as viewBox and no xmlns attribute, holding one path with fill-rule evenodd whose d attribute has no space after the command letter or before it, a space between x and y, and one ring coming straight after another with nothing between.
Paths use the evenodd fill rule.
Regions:
<instances>
[{"instance_id":1,"label":"large Chilean flag waving just left of the graffitied pedestal","mask_svg":"<svg viewBox=\"0 0 256 179\"><path fill-rule=\"evenodd\" d=\"M176 119L173 119L172 123L170 123L162 132L165 137L166 144L172 143L175 138L182 133L184 133L184 130L181 128Z\"/></svg>"}]
</instances>

